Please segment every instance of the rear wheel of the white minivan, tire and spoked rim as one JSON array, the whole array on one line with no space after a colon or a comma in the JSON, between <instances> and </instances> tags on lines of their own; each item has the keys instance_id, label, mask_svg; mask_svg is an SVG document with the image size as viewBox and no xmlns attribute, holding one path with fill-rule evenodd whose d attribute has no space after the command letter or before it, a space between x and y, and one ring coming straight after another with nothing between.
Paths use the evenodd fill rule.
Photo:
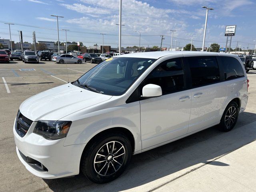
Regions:
<instances>
[{"instance_id":1,"label":"rear wheel of the white minivan, tire and spoked rim","mask_svg":"<svg viewBox=\"0 0 256 192\"><path fill-rule=\"evenodd\" d=\"M219 128L221 131L228 132L236 125L239 114L239 107L236 102L230 102L226 107L220 120Z\"/></svg>"}]
</instances>

